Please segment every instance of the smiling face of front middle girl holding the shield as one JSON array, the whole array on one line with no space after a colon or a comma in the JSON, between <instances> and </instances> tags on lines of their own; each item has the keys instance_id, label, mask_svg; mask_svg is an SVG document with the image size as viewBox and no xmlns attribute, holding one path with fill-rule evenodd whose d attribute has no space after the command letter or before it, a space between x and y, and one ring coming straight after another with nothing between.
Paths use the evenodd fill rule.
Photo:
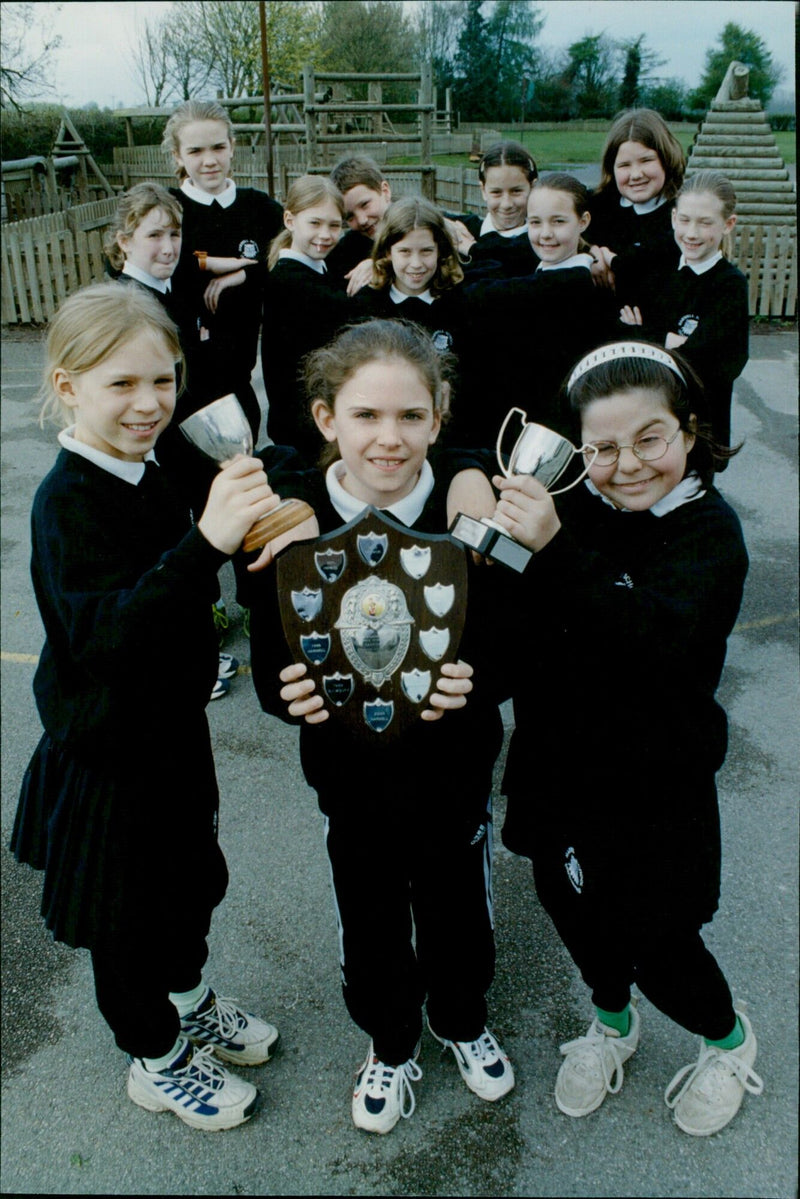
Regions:
<instances>
[{"instance_id":1,"label":"smiling face of front middle girl holding the shield","mask_svg":"<svg viewBox=\"0 0 800 1199\"><path fill-rule=\"evenodd\" d=\"M359 367L333 410L317 399L312 414L325 440L338 442L344 489L377 508L414 490L441 423L420 373L403 359Z\"/></svg>"}]
</instances>

